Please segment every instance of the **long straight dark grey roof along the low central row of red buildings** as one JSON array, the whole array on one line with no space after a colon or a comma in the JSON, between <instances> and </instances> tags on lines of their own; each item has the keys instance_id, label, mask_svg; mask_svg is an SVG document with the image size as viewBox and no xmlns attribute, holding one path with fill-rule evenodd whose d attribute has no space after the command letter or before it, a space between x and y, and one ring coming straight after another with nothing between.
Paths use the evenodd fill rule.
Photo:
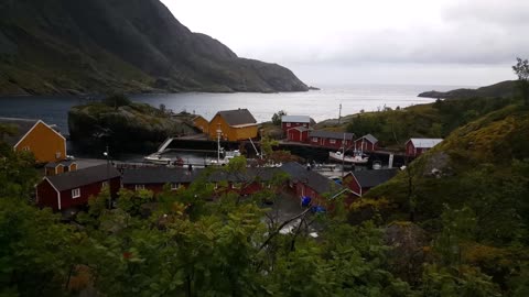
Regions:
<instances>
[{"instance_id":1,"label":"long straight dark grey roof along the low central row of red buildings","mask_svg":"<svg viewBox=\"0 0 529 297\"><path fill-rule=\"evenodd\" d=\"M256 179L270 180L278 168L247 168L241 173L227 173L226 170L208 170L204 168L168 168L168 167L140 167L126 169L123 172L123 185L148 185L148 184L190 184L203 174L209 183L234 182L250 183Z\"/></svg>"}]
</instances>

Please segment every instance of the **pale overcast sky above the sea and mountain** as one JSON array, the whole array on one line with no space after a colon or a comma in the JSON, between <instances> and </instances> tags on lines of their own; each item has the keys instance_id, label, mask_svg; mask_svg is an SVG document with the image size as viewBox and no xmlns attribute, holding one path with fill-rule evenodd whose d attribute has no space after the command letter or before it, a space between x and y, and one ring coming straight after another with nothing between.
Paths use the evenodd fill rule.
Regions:
<instances>
[{"instance_id":1,"label":"pale overcast sky above the sea and mountain","mask_svg":"<svg viewBox=\"0 0 529 297\"><path fill-rule=\"evenodd\" d=\"M162 0L193 32L309 85L483 86L529 57L527 0Z\"/></svg>"}]
</instances>

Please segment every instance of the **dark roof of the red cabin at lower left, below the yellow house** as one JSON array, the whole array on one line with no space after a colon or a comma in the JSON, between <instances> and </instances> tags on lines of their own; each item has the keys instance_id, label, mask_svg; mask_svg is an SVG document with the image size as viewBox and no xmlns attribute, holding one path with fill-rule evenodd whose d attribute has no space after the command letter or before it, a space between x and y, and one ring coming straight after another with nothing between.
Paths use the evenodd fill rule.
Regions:
<instances>
[{"instance_id":1,"label":"dark roof of the red cabin at lower left, below the yellow house","mask_svg":"<svg viewBox=\"0 0 529 297\"><path fill-rule=\"evenodd\" d=\"M102 164L55 176L47 176L45 178L47 178L57 190L67 190L104 182L120 175L114 166Z\"/></svg>"}]
</instances>

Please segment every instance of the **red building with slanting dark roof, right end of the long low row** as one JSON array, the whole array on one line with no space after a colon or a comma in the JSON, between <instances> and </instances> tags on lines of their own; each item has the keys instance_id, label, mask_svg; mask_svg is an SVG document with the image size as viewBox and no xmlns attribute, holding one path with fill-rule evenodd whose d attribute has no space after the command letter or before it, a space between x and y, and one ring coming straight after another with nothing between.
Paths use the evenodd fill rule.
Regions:
<instances>
[{"instance_id":1,"label":"red building with slanting dark roof, right end of the long low row","mask_svg":"<svg viewBox=\"0 0 529 297\"><path fill-rule=\"evenodd\" d=\"M300 199L309 197L315 205L326 205L324 194L334 198L348 190L336 182L295 162L283 164L281 170L290 177L288 186L290 193Z\"/></svg>"}]
</instances>

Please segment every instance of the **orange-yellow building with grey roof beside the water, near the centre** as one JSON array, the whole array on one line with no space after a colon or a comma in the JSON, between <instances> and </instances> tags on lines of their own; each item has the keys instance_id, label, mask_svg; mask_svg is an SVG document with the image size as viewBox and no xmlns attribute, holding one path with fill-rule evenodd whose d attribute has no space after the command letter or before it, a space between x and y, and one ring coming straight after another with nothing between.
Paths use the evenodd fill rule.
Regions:
<instances>
[{"instance_id":1,"label":"orange-yellow building with grey roof beside the water, near the centre","mask_svg":"<svg viewBox=\"0 0 529 297\"><path fill-rule=\"evenodd\" d=\"M208 125L209 138L220 138L226 141L239 141L257 138L257 121L248 109L219 111Z\"/></svg>"}]
</instances>

